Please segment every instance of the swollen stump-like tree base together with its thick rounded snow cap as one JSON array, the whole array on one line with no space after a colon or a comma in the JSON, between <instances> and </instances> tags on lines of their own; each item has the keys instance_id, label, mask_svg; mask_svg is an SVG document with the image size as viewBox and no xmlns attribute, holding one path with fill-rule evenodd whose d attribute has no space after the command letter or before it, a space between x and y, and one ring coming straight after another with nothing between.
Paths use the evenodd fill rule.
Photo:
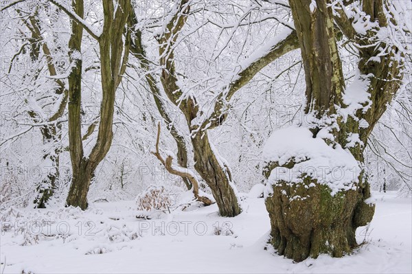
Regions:
<instances>
[{"instance_id":1,"label":"swollen stump-like tree base together with its thick rounded snow cap","mask_svg":"<svg viewBox=\"0 0 412 274\"><path fill-rule=\"evenodd\" d=\"M350 253L357 246L356 228L374 215L374 205L363 201L369 189L358 187L365 179L356 159L321 137L308 128L284 128L264 148L270 243L296 262Z\"/></svg>"}]
</instances>

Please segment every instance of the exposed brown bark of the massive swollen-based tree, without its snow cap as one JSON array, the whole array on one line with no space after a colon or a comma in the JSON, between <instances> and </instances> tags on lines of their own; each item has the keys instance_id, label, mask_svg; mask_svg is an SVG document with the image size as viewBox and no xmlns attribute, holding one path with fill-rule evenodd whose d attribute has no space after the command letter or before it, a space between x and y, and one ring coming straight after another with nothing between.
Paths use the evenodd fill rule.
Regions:
<instances>
[{"instance_id":1,"label":"exposed brown bark of the massive swollen-based tree, without its snow cap","mask_svg":"<svg viewBox=\"0 0 412 274\"><path fill-rule=\"evenodd\" d=\"M320 253L341 257L357 246L356 228L367 225L374 216L374 205L365 203L370 190L367 174L363 169L363 150L369 133L385 111L385 104L390 102L398 90L399 79L402 78L399 63L391 58L392 55L380 57L380 62L369 60L379 54L375 50L378 47L372 45L376 32L355 36L353 29L347 29L352 27L351 24L340 24L339 20L342 18L336 20L351 41L358 39L356 43L365 46L359 49L361 60L358 69L359 78L369 80L369 84L365 90L357 87L355 92L367 92L371 100L371 107L366 112L361 106L354 113L338 113L336 109L339 108L345 113L345 92L350 91L344 87L332 10L328 7L327 0L316 0L316 6L312 2L290 0L306 74L306 113L315 117L308 128L314 138L319 130L328 130L333 138L323 141L333 148L347 148L358 162L361 172L357 180L353 181L354 189L340 190L334 195L328 185L319 183L303 172L300 175L303 183L275 181L273 194L266 198L266 209L271 218L271 244L279 254L297 262L308 256L317 258ZM382 0L363 3L364 11L371 15L371 21L378 20L382 27L386 23L385 17L382 17ZM378 14L381 15L380 18ZM396 52L396 47L391 47ZM381 48L385 46L382 45ZM389 62L392 62L391 66ZM326 124L328 119L324 119L325 117L339 127L330 127L330 124ZM369 126L360 126L361 119L365 119ZM348 144L348 138L352 135L359 137L360 141L356 141L356 145ZM270 162L265 170L266 179L274 168L281 166L291 171L300 162L294 157L284 165ZM295 198L297 196L304 198Z\"/></svg>"}]
</instances>

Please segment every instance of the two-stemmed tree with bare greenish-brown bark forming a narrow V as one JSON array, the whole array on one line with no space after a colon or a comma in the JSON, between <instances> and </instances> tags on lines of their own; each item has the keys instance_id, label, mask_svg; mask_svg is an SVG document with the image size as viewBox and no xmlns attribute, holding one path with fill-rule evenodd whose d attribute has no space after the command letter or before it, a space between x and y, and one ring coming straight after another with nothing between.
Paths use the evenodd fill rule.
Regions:
<instances>
[{"instance_id":1,"label":"two-stemmed tree with bare greenish-brown bark forming a narrow V","mask_svg":"<svg viewBox=\"0 0 412 274\"><path fill-rule=\"evenodd\" d=\"M72 2L73 10L83 17L83 1ZM89 157L84 157L80 106L82 84L82 62L76 58L81 51L82 29L84 25L72 21L72 30L69 41L71 59L76 60L69 76L69 148L73 178L67 196L67 206L87 208L87 193L95 169L104 159L111 147L113 139L113 113L115 93L122 81L126 70L130 47L130 29L128 16L132 9L130 0L119 0L119 7L115 8L113 1L103 1L104 24L102 34L95 37L100 47L100 69L102 74L102 104L100 106L100 122L98 137ZM71 60L73 62L73 60Z\"/></svg>"}]
</instances>

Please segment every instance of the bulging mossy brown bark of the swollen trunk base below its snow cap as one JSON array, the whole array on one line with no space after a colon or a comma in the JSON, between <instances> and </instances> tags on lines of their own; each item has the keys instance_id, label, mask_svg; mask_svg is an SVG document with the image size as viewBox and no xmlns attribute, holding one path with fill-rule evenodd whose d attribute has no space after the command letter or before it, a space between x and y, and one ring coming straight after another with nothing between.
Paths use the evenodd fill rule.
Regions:
<instances>
[{"instance_id":1,"label":"bulging mossy brown bark of the swollen trunk base below its snow cap","mask_svg":"<svg viewBox=\"0 0 412 274\"><path fill-rule=\"evenodd\" d=\"M315 186L308 187L310 183ZM321 253L341 257L356 247L356 228L371 220L374 207L363 202L361 191L341 191L334 196L330 191L309 177L304 183L281 181L273 186L266 209L271 218L271 244L280 255L300 262Z\"/></svg>"}]
</instances>

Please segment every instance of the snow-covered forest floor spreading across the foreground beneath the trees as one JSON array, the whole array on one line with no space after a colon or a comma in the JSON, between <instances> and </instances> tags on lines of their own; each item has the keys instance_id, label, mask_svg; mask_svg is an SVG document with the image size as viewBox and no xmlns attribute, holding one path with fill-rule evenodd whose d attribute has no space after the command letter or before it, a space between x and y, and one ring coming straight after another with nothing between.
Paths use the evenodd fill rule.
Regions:
<instances>
[{"instance_id":1,"label":"snow-covered forest floor spreading across the foreground beneath the trees","mask_svg":"<svg viewBox=\"0 0 412 274\"><path fill-rule=\"evenodd\" d=\"M1 216L0 273L411 273L411 198L374 198L374 220L357 231L366 243L354 254L301 263L264 250L263 198L248 198L236 218L211 205L139 220L133 201L86 212L13 209Z\"/></svg>"}]
</instances>

